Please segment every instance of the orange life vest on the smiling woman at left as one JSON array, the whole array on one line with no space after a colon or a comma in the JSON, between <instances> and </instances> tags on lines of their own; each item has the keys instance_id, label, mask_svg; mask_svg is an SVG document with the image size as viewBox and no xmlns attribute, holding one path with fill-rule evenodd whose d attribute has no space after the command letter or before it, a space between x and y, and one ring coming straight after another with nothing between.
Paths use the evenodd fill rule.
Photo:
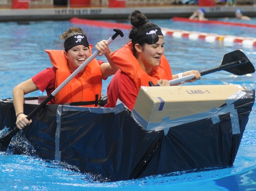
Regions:
<instances>
[{"instance_id":1,"label":"orange life vest on the smiling woman at left","mask_svg":"<svg viewBox=\"0 0 256 191\"><path fill-rule=\"evenodd\" d=\"M92 46L90 45L90 50ZM45 50L50 57L52 65L56 68L55 88L60 86L70 75L67 59L64 51ZM91 51L90 51L91 56ZM90 102L95 101L96 95L101 98L102 91L102 71L96 59L93 59L84 70L82 76L78 79L73 78L68 82L55 96L54 104L64 104L72 102ZM94 104L86 105L95 107Z\"/></svg>"}]
</instances>

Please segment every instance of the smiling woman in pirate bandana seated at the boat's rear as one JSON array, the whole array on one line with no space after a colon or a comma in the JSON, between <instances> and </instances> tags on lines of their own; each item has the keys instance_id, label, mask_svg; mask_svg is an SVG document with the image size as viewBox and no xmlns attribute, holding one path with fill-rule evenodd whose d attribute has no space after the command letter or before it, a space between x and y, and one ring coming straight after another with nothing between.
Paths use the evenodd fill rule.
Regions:
<instances>
[{"instance_id":1,"label":"smiling woman in pirate bandana seated at the boat's rear","mask_svg":"<svg viewBox=\"0 0 256 191\"><path fill-rule=\"evenodd\" d=\"M44 69L29 80L18 84L13 89L13 104L16 112L16 125L19 129L27 126L32 121L27 120L23 102L24 95L32 91L46 90L51 94L56 87L62 84L79 66L91 55L92 46L82 29L72 27L60 37L64 40L64 49L46 50L53 67ZM97 61L95 58L78 73L67 85L65 85L48 104L85 105L87 107L99 107L102 91L102 79L112 76L117 67L112 64L107 40L102 40L96 45L99 55L103 54L109 63Z\"/></svg>"}]
</instances>

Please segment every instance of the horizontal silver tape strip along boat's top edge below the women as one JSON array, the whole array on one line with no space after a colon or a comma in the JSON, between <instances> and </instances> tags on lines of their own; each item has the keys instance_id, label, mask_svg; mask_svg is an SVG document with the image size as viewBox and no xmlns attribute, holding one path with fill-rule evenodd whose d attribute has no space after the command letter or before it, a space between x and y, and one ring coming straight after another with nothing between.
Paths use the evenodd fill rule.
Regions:
<instances>
[{"instance_id":1,"label":"horizontal silver tape strip along boat's top edge below the women","mask_svg":"<svg viewBox=\"0 0 256 191\"><path fill-rule=\"evenodd\" d=\"M120 113L124 111L125 107L123 103L116 105L115 108L105 108L105 107L77 107L63 105L63 111L89 111L92 113Z\"/></svg>"}]
</instances>

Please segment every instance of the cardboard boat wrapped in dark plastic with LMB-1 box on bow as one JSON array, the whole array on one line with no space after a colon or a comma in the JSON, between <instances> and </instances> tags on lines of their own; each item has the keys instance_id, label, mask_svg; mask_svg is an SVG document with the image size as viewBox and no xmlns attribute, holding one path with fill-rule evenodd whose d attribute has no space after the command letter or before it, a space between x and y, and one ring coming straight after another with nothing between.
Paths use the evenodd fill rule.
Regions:
<instances>
[{"instance_id":1,"label":"cardboard boat wrapped in dark plastic with LMB-1 box on bow","mask_svg":"<svg viewBox=\"0 0 256 191\"><path fill-rule=\"evenodd\" d=\"M132 112L122 103L46 105L22 133L39 157L101 181L225 168L237 155L254 99L254 90L235 85L142 87ZM41 100L26 98L24 113ZM0 129L15 121L12 99L1 100Z\"/></svg>"}]
</instances>

